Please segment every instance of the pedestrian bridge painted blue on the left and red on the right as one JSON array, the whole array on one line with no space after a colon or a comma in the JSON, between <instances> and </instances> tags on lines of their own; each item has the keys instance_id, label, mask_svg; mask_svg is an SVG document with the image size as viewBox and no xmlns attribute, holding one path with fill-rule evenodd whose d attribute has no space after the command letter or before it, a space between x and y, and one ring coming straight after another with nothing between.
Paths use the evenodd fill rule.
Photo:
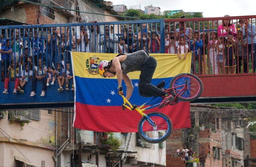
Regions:
<instances>
[{"instance_id":1,"label":"pedestrian bridge painted blue on the left and red on the right","mask_svg":"<svg viewBox=\"0 0 256 167\"><path fill-rule=\"evenodd\" d=\"M243 48L245 52L243 52L241 59L239 58L240 56L234 47L232 52L229 52L229 54L233 54L231 62L238 62L240 60L240 64L237 66L231 66L230 69L232 69L231 71L233 72L228 73L225 72L225 66L220 66L220 63L215 63L215 61L220 61L219 51L213 55L215 56L215 59L213 60L213 63L211 62L209 59L211 46L208 45L208 41L211 40L210 32L218 32L218 27L220 24L222 24L222 20L228 20L231 24L234 24L236 29L233 29L229 35L232 36L232 38L237 39L238 30L240 30L242 25L242 22L239 22L239 20L248 20L248 22L255 24L255 18L256 16L239 16L222 18L184 18L168 20L161 19L97 23L0 26L0 34L3 36L1 45L12 45L13 48L11 54L2 53L0 64L0 90L4 91L5 78L11 79L11 76L8 75L7 69L9 65L12 65L11 61L14 59L14 57L17 61L17 64L14 63L13 66L15 69L16 67L19 67L19 69L17 72L14 72L15 75L13 80L15 80L17 73L21 75L21 70L24 68L24 62L25 65L26 63L29 64L28 69L30 68L29 70L31 70L34 68L33 66L39 65L39 59L41 58L43 59L44 64L46 66L51 66L51 68L53 65L56 67L57 63L60 62L63 64L61 68L66 72L66 63L69 63L70 60L67 51L73 50L78 52L90 52L93 50L93 48L95 51L96 48L97 52L108 51L120 53L120 51L125 51L124 46L122 46L123 48L120 47L120 41L125 41L125 44L127 44L128 53L135 52L140 49L145 49L150 53L170 53L171 47L173 46L168 44L171 43L173 39L174 42L180 41L184 34L178 33L178 31L182 31L181 28L183 27L186 30L188 29L188 31L182 32L185 33L186 41L189 45L189 50L193 51L195 47L194 44L191 44L190 39L194 39L194 34L196 31L201 34L200 39L205 39L202 41L202 47L197 50L197 52L200 52L201 50L200 53L203 55L203 58L199 60L197 59L197 62L196 59L192 59L192 64L194 64L192 65L192 73L196 74L201 79L203 82L204 90L201 97L192 103L211 104L228 102L255 102L256 73L254 66L256 63L255 55L254 62L252 62L252 56L250 53L254 53L254 51L250 45L246 44L246 47ZM148 32L148 37L145 38L146 41L144 42L144 39L141 37L141 34L144 35L143 28L146 28L145 32ZM94 30L92 31L92 29ZM57 33L55 30L57 30ZM243 29L241 30L243 31ZM85 33L86 31L87 33ZM160 47L157 46L158 42L152 40L152 36L153 38L155 36L155 31L157 31L156 36L158 36ZM170 38L170 36L172 36L172 31L174 32L175 38ZM253 30L251 29L251 31ZM108 36L110 36L110 40L107 39ZM82 40L79 40L80 37ZM99 37L100 45L102 45L101 47L97 42L95 42L98 41L97 37ZM7 40L8 38L11 40ZM248 43L250 38L255 38L255 32L254 36L250 36L248 33L245 33L244 42ZM101 43L102 41L103 43ZM9 45L7 44L8 42ZM86 45L82 45L84 43L86 43L88 47L86 47ZM117 45L118 43L119 47ZM145 43L148 45L144 45ZM151 47L153 46L152 43L155 45L155 47ZM178 45L180 46L179 42ZM215 46L212 46L213 49L215 49L214 47ZM119 50L119 48L121 50ZM159 50L156 48L159 48ZM4 48L3 51L7 50ZM174 52L177 53L177 50L174 50ZM196 57L196 55L194 55L194 57ZM217 65L217 67L215 65ZM230 66L230 64L226 65ZM70 66L72 66L71 63ZM216 71L216 69L218 71ZM70 71L70 73L72 74L72 71ZM24 71L23 74L25 74ZM20 77L20 75L18 77ZM39 76L40 74L36 74L36 71L33 70L31 75L34 78L36 75ZM8 86L8 94L3 94L0 92L0 110L73 107L74 91L71 91L71 85L72 84L70 82L70 91L64 90L62 93L59 93L57 91L59 84L57 81L55 81L54 85L50 84L50 86L47 87L46 95L41 97L40 94L43 88L43 81L38 80L36 82L36 95L34 97L30 97L32 90L31 80L29 80L28 83L24 86L23 94L20 92L13 94L15 82L10 81Z\"/></svg>"}]
</instances>

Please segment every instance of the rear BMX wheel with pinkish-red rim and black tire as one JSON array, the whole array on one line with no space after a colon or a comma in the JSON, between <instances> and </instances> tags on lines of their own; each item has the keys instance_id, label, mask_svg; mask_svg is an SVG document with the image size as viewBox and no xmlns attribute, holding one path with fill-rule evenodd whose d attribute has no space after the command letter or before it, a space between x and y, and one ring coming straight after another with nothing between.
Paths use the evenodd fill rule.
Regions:
<instances>
[{"instance_id":1,"label":"rear BMX wheel with pinkish-red rim and black tire","mask_svg":"<svg viewBox=\"0 0 256 167\"><path fill-rule=\"evenodd\" d=\"M189 89L183 91L180 95L177 96L178 100L185 102L192 102L198 99L203 92L203 84L202 81L195 75L189 73L182 73L173 77L170 82L170 88L184 85L186 80L189 81L188 87ZM176 91L181 90L183 87L178 87L176 89L171 89L170 93L173 97L176 96Z\"/></svg>"}]
</instances>

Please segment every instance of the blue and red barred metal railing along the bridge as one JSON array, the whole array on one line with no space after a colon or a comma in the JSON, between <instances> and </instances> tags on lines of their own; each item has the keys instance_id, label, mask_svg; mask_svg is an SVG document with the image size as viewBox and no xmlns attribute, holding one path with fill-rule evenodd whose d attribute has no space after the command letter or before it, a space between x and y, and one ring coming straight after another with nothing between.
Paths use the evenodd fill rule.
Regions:
<instances>
[{"instance_id":1,"label":"blue and red barred metal railing along the bridge","mask_svg":"<svg viewBox=\"0 0 256 167\"><path fill-rule=\"evenodd\" d=\"M5 47L2 49L0 77L2 82L8 77L15 81L22 72L25 75L23 69L26 64L28 71L32 69L29 75L34 77L34 69L39 62L43 63L42 67L49 66L55 70L59 64L58 70L64 70L66 76L66 64L71 63L68 51L131 53L145 50L178 55L192 52L191 69L194 74L254 73L255 18L239 16L1 26L1 45ZM8 51L10 48L12 51ZM180 58L184 59L183 56ZM16 67L19 69L14 70L12 78L9 72ZM39 73L44 74L37 70L37 76Z\"/></svg>"}]
</instances>

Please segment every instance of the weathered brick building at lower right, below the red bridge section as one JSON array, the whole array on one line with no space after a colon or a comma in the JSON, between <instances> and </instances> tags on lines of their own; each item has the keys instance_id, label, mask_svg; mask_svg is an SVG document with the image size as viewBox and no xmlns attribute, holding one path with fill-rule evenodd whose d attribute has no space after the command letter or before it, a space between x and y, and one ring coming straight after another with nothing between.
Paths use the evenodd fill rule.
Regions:
<instances>
[{"instance_id":1,"label":"weathered brick building at lower right, below the red bridge section","mask_svg":"<svg viewBox=\"0 0 256 167\"><path fill-rule=\"evenodd\" d=\"M174 130L166 141L167 167L185 165L176 153L184 146L195 150L205 167L250 166L249 131L240 113L235 108L191 105L192 128Z\"/></svg>"}]
</instances>

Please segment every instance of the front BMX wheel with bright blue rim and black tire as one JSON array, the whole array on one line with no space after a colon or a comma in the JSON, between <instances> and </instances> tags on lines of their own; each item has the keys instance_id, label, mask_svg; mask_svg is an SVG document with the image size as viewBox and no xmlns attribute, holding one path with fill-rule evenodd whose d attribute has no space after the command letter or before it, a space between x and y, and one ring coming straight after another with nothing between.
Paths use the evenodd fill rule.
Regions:
<instances>
[{"instance_id":1,"label":"front BMX wheel with bright blue rim and black tire","mask_svg":"<svg viewBox=\"0 0 256 167\"><path fill-rule=\"evenodd\" d=\"M143 116L138 124L138 133L140 137L148 143L155 144L155 143L164 142L171 135L173 131L172 121L167 115L160 112L151 112L147 114L147 116L151 118L151 120L155 121L156 126L159 125L161 129L154 130L152 125L148 123L147 118ZM164 131L166 131L166 133L159 138L159 134L163 133ZM151 135L147 135L147 134L151 134Z\"/></svg>"}]
</instances>

